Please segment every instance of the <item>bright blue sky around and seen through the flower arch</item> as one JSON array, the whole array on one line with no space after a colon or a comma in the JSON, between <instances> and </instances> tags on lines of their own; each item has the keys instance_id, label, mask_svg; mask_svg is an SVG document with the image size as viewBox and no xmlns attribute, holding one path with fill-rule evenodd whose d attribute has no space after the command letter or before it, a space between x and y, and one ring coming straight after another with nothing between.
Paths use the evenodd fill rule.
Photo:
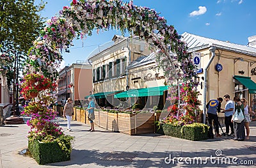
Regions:
<instances>
[{"instance_id":1,"label":"bright blue sky around and seen through the flower arch","mask_svg":"<svg viewBox=\"0 0 256 168\"><path fill-rule=\"evenodd\" d=\"M36 0L38 2L39 0ZM51 19L69 0L45 0L43 17ZM179 34L184 32L247 45L248 36L256 35L256 1L254 0L134 0L134 5L147 6L160 12ZM76 40L70 53L63 53L65 65L84 61L94 49L109 42L120 31L94 33L86 40Z\"/></svg>"}]
</instances>

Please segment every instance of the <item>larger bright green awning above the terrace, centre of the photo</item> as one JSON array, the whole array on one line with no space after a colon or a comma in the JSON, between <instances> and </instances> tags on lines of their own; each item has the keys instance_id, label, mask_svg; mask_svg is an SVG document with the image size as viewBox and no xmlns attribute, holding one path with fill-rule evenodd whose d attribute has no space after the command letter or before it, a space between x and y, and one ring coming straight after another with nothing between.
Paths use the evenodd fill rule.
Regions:
<instances>
[{"instance_id":1,"label":"larger bright green awning above the terrace, centre of the photo","mask_svg":"<svg viewBox=\"0 0 256 168\"><path fill-rule=\"evenodd\" d=\"M116 94L114 98L159 96L159 95L163 95L164 91L166 91L168 87L169 86L159 86L159 87L152 87L152 88L131 89L131 90Z\"/></svg>"}]
</instances>

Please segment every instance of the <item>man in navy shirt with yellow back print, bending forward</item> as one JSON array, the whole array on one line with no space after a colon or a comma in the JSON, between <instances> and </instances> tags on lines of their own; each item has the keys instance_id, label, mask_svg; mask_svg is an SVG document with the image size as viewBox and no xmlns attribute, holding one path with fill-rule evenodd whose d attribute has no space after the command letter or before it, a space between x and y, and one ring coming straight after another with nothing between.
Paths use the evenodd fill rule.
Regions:
<instances>
[{"instance_id":1,"label":"man in navy shirt with yellow back print, bending forward","mask_svg":"<svg viewBox=\"0 0 256 168\"><path fill-rule=\"evenodd\" d=\"M218 121L218 114L217 112L220 112L221 110L221 102L223 101L223 98L217 98L217 100L210 100L207 105L207 114L208 114L208 122L211 130L211 136L213 138L212 134L212 119L214 121L214 129L216 132L216 137L221 137L219 134L219 121Z\"/></svg>"}]
</instances>

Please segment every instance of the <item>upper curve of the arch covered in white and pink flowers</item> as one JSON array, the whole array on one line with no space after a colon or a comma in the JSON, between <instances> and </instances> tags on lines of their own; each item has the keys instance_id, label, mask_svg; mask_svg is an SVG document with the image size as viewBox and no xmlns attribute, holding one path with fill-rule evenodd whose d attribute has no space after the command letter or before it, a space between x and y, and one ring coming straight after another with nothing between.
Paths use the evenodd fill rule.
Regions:
<instances>
[{"instance_id":1,"label":"upper curve of the arch covered in white and pink flowers","mask_svg":"<svg viewBox=\"0 0 256 168\"><path fill-rule=\"evenodd\" d=\"M128 31L156 45L157 64L163 68L168 84L177 84L178 80L193 82L196 76L186 43L179 39L173 26L168 26L166 19L155 10L120 0L73 0L70 6L64 6L58 17L47 21L33 43L27 70L41 71L54 79L63 59L61 52L69 52L74 38L90 36L94 29L119 29L123 34Z\"/></svg>"}]
</instances>

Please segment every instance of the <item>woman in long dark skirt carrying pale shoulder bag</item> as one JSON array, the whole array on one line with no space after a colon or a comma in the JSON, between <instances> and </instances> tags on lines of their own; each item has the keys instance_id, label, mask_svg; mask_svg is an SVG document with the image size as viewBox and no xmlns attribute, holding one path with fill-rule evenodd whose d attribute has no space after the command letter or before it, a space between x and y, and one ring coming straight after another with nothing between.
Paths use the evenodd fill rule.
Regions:
<instances>
[{"instance_id":1,"label":"woman in long dark skirt carrying pale shoulder bag","mask_svg":"<svg viewBox=\"0 0 256 168\"><path fill-rule=\"evenodd\" d=\"M243 103L241 103L240 98L235 96L234 97L234 102L236 103L235 112L237 110L237 112L243 112L243 115L244 115L244 105L243 105ZM233 140L235 140L235 141L244 141L244 139L245 139L244 120L241 123L236 123L234 121L234 132L235 132L235 137L234 137Z\"/></svg>"}]
</instances>

